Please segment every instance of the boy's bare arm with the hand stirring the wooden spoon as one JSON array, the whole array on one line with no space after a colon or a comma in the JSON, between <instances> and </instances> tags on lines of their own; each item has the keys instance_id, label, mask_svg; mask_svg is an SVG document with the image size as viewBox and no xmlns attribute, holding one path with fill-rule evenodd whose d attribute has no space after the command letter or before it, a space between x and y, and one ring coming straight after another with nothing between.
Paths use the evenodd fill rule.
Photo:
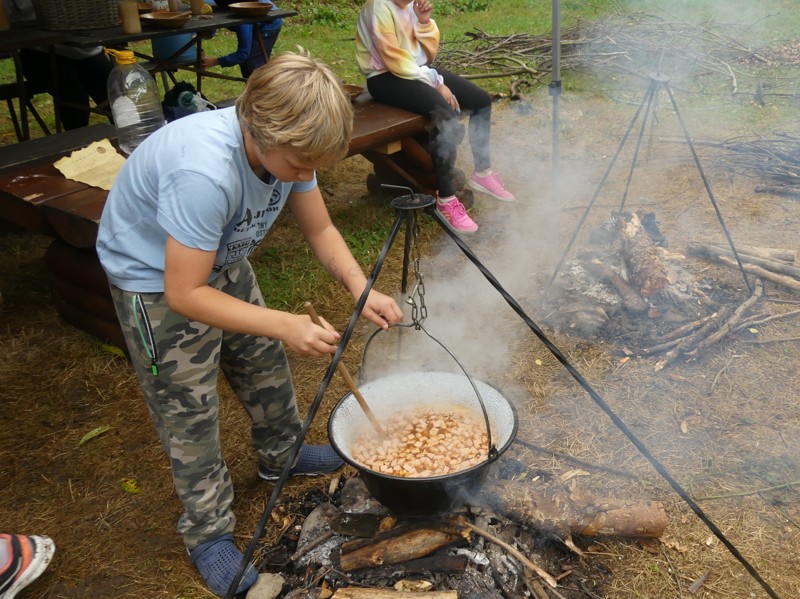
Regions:
<instances>
[{"instance_id":1,"label":"boy's bare arm with the hand stirring the wooden spoon","mask_svg":"<svg viewBox=\"0 0 800 599\"><path fill-rule=\"evenodd\" d=\"M255 306L211 287L214 256L167 238L164 291L172 310L225 331L280 339L304 356L336 351L340 336L328 323L319 327L306 315Z\"/></svg>"}]
</instances>

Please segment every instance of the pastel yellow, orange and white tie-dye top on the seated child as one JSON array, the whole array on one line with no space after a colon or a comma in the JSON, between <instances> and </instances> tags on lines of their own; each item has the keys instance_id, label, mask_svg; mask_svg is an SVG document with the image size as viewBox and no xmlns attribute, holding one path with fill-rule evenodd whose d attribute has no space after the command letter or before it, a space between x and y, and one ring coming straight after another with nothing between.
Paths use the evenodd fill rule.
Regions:
<instances>
[{"instance_id":1,"label":"pastel yellow, orange and white tie-dye top on the seated child","mask_svg":"<svg viewBox=\"0 0 800 599\"><path fill-rule=\"evenodd\" d=\"M441 76L428 64L439 50L439 28L421 24L412 3L401 8L392 0L367 0L358 17L356 59L368 79L391 71L438 87Z\"/></svg>"}]
</instances>

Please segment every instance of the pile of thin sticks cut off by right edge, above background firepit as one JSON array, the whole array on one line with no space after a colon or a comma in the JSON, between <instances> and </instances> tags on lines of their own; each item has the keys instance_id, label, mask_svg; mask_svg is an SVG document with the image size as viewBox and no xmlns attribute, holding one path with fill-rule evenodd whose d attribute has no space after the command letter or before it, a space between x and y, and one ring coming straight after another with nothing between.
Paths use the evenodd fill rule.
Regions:
<instances>
[{"instance_id":1,"label":"pile of thin sticks cut off by right edge, above background firepit","mask_svg":"<svg viewBox=\"0 0 800 599\"><path fill-rule=\"evenodd\" d=\"M695 143L723 150L719 167L765 181L755 186L756 193L800 198L800 139L778 133L774 139Z\"/></svg>"}]
</instances>

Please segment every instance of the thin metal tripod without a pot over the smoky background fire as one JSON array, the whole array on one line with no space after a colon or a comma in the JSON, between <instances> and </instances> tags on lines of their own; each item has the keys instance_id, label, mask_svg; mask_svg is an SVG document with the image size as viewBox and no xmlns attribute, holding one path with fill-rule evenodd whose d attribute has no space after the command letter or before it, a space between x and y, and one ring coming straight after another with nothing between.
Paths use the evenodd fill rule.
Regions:
<instances>
[{"instance_id":1,"label":"thin metal tripod without a pot over the smoky background fire","mask_svg":"<svg viewBox=\"0 0 800 599\"><path fill-rule=\"evenodd\" d=\"M631 132L633 131L634 126L636 125L636 122L642 115L642 111L644 111L644 116L642 117L642 124L639 129L639 135L636 140L636 147L634 148L633 159L631 160L631 167L630 170L628 171L628 179L625 183L625 191L622 194L622 202L620 203L619 211L622 212L622 209L625 207L625 201L627 200L628 197L628 191L630 189L631 179L633 178L633 170L636 166L636 160L639 156L639 150L641 149L642 146L642 139L644 138L644 132L645 129L647 128L647 121L648 118L651 116L651 114L654 112L654 105L658 97L658 92L661 88L664 88L664 90L666 90L670 102L672 103L672 108L675 111L675 116L677 117L678 122L680 123L681 130L683 131L684 138L686 139L686 144L689 146L689 150L692 153L692 158L694 159L694 164L697 167L698 172L700 173L700 178L703 181L703 186L705 187L706 193L708 194L708 199L711 201L711 205L714 207L714 212L717 215L717 220L719 220L719 224L722 227L722 231L725 233L725 238L728 240L728 245L730 246L734 257L736 258L736 264L739 266L739 271L742 273L744 284L750 293L753 292L753 285L747 278L747 273L745 272L744 266L742 265L742 260L739 257L739 253L736 251L736 246L734 246L733 244L733 239L731 238L731 234L728 231L728 228L725 226L725 220L722 218L722 212L719 209L717 200L714 198L714 192L711 190L711 184L708 182L708 178L706 177L705 171L703 170L703 167L700 164L700 159L697 156L694 143L692 142L692 139L689 136L689 131L686 129L686 124L684 123L683 117L681 116L681 111L678 109L678 104L675 101L675 96L672 95L672 89L669 86L669 77L661 75L660 73L650 74L650 85L648 86L647 91L645 92L644 97L642 98L642 101L639 104L638 109L636 110L636 113L633 115L633 118L631 119L631 122L628 125L628 129L622 136L622 140L620 141L619 146L617 147L617 151L614 153L614 156L611 159L611 162L609 163L606 172L603 174L603 177L600 180L600 183L598 184L597 189L594 192L594 195L592 195L592 199L586 206L586 210L584 210L583 215L581 215L581 218L578 221L578 225L575 228L575 231L573 232L572 237L569 240L569 243L567 243L567 247L564 249L561 258L559 259L558 264L556 265L556 268L550 277L550 280L547 282L547 287L545 288L545 292L550 290L553 281L555 281L555 278L558 276L558 273L561 272L561 268L564 266L564 261L567 258L567 254L572 248L573 243L575 243L575 239L578 237L578 233L580 232L581 228L586 222L586 218L588 217L589 212L592 209L592 206L594 206L594 203L597 201L597 198L600 195L600 192L603 189L603 186L605 185L606 181L608 180L608 176L611 174L611 171L613 170L614 165L616 164L617 159L619 158L623 147L627 143L628 138L630 137Z\"/></svg>"}]
</instances>

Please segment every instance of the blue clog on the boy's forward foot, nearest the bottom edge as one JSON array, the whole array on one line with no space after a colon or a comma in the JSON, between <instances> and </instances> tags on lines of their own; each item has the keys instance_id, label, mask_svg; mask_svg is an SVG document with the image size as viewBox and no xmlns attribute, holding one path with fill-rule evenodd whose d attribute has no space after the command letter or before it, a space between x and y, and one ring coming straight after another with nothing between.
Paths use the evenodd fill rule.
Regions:
<instances>
[{"instance_id":1,"label":"blue clog on the boy's forward foot, nearest the bottom edge","mask_svg":"<svg viewBox=\"0 0 800 599\"><path fill-rule=\"evenodd\" d=\"M189 554L189 559L203 576L215 595L224 597L242 565L242 552L233 544L233 535L223 535L213 541L201 543ZM247 564L237 594L246 591L258 580L252 564Z\"/></svg>"}]
</instances>

